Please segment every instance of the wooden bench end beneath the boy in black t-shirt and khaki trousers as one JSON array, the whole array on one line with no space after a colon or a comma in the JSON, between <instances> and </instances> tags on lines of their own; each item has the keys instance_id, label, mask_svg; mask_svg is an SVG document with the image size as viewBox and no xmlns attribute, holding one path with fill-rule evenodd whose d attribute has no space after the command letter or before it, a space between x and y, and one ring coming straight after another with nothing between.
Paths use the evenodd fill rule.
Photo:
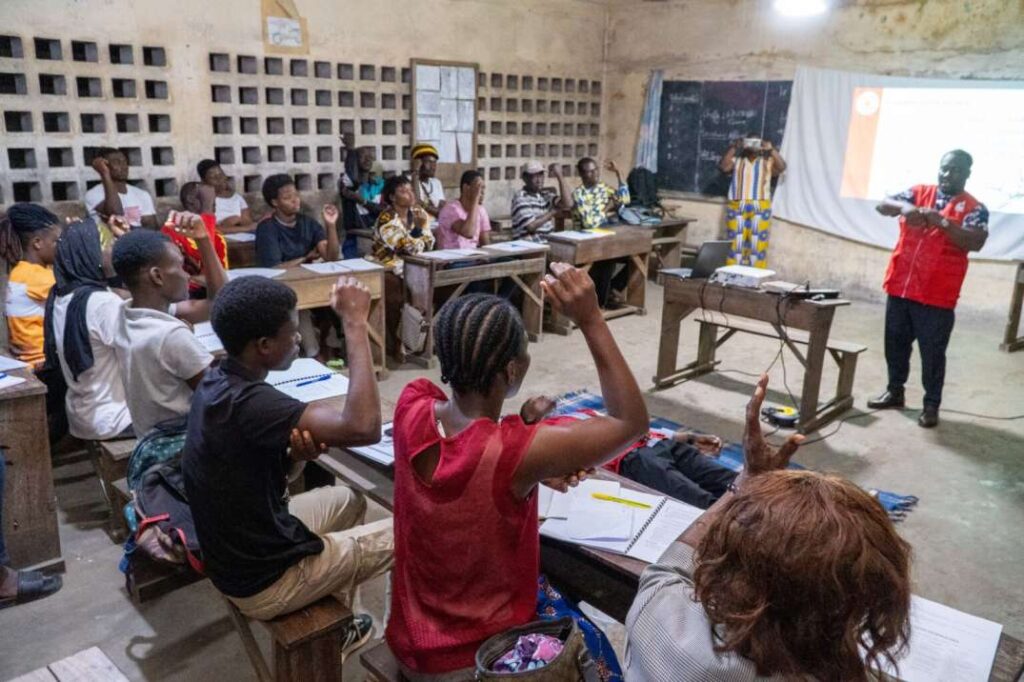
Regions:
<instances>
[{"instance_id":1,"label":"wooden bench end beneath the boy in black t-shirt and khaki trousers","mask_svg":"<svg viewBox=\"0 0 1024 682\"><path fill-rule=\"evenodd\" d=\"M352 612L334 597L325 597L270 621L252 621L226 597L224 603L260 682L341 679L342 633ZM250 623L254 622L270 634L270 665L253 637Z\"/></svg>"}]
</instances>

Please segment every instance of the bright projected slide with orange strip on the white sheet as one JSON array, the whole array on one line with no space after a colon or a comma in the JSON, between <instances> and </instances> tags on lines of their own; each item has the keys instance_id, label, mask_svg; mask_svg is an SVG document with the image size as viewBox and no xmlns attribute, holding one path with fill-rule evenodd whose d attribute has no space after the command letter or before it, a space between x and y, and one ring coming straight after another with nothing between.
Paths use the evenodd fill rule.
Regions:
<instances>
[{"instance_id":1,"label":"bright projected slide with orange strip on the white sheet","mask_svg":"<svg viewBox=\"0 0 1024 682\"><path fill-rule=\"evenodd\" d=\"M1024 214L1024 90L858 87L840 194L880 200L935 182L951 148L974 157L969 191L990 211Z\"/></svg>"}]
</instances>

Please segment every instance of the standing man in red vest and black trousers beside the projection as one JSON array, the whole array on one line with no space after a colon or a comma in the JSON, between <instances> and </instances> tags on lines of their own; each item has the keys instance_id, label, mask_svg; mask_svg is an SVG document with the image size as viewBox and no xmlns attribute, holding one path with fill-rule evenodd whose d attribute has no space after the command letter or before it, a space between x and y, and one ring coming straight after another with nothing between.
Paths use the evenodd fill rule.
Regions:
<instances>
[{"instance_id":1,"label":"standing man in red vest and black trousers beside the projection","mask_svg":"<svg viewBox=\"0 0 1024 682\"><path fill-rule=\"evenodd\" d=\"M954 150L939 163L939 183L919 184L890 197L877 210L899 217L899 241L883 285L886 303L886 364L889 386L867 407L901 409L903 386L910 374L913 342L921 351L925 407L918 418L924 428L939 423L946 346L953 331L967 255L988 238L988 209L964 191L971 176L971 155Z\"/></svg>"}]
</instances>

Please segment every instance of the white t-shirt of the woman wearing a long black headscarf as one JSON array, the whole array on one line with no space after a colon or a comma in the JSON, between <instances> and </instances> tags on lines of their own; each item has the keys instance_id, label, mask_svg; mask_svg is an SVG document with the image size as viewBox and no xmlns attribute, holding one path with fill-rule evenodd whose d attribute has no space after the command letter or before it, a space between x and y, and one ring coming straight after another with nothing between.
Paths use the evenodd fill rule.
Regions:
<instances>
[{"instance_id":1,"label":"white t-shirt of the woman wearing a long black headscarf","mask_svg":"<svg viewBox=\"0 0 1024 682\"><path fill-rule=\"evenodd\" d=\"M63 355L65 321L72 296L74 294L58 296L53 301L53 335L56 338L60 371L68 383L68 424L76 438L105 440L117 436L131 425L124 382L121 381L121 371L114 350L123 303L121 297L111 291L97 291L89 297L85 321L92 345L93 364L75 381Z\"/></svg>"}]
</instances>

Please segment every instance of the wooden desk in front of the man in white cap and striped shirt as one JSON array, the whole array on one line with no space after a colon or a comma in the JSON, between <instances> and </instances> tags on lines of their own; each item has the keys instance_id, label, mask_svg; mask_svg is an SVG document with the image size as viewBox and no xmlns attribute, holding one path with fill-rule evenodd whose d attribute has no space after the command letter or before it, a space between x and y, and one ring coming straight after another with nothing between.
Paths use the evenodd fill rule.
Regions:
<instances>
[{"instance_id":1,"label":"wooden desk in front of the man in white cap and striped shirt","mask_svg":"<svg viewBox=\"0 0 1024 682\"><path fill-rule=\"evenodd\" d=\"M626 305L614 310L603 310L605 319L628 314L644 314L646 308L647 258L651 251L653 230L633 225L603 227L614 233L590 240L571 240L559 232L548 236L550 259L575 265L585 270L601 260L628 259L630 280L626 288ZM567 317L552 310L548 328L557 334L569 334L572 324Z\"/></svg>"}]
</instances>

